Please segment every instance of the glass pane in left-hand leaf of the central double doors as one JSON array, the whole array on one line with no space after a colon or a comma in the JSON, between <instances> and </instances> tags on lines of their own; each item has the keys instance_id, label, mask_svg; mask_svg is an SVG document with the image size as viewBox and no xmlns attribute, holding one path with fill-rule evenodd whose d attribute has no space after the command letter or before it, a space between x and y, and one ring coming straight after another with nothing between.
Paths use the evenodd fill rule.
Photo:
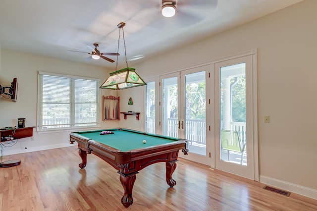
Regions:
<instances>
[{"instance_id":1,"label":"glass pane in left-hand leaf of the central double doors","mask_svg":"<svg viewBox=\"0 0 317 211\"><path fill-rule=\"evenodd\" d=\"M162 80L163 83L163 135L178 137L178 86L177 77Z\"/></svg>"}]
</instances>

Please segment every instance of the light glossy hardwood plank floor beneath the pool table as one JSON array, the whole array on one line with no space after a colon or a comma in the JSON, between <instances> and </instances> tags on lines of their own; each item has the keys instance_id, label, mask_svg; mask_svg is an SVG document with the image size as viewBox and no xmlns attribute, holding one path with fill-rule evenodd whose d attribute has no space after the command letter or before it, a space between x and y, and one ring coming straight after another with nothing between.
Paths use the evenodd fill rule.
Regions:
<instances>
[{"instance_id":1,"label":"light glossy hardwood plank floor beneath the pool table","mask_svg":"<svg viewBox=\"0 0 317 211\"><path fill-rule=\"evenodd\" d=\"M185 159L179 159L170 188L164 163L141 170L134 183L134 203L121 204L119 174L104 160L88 155L81 162L76 147L6 156L21 164L0 168L0 211L316 211L317 200L294 193L286 197L264 184ZM157 172L157 173L153 173Z\"/></svg>"}]
</instances>

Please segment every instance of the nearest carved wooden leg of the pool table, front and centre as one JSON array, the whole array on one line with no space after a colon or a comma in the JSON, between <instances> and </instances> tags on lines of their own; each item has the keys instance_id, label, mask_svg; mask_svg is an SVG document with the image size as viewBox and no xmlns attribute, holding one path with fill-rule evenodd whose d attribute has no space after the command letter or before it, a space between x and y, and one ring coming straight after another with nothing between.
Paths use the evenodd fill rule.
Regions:
<instances>
[{"instance_id":1,"label":"nearest carved wooden leg of the pool table, front and centre","mask_svg":"<svg viewBox=\"0 0 317 211\"><path fill-rule=\"evenodd\" d=\"M121 203L126 208L128 208L133 203L132 189L133 189L135 180L136 180L135 174L128 175L128 176L124 176L120 174L120 182L124 189L124 195L121 199Z\"/></svg>"}]
</instances>

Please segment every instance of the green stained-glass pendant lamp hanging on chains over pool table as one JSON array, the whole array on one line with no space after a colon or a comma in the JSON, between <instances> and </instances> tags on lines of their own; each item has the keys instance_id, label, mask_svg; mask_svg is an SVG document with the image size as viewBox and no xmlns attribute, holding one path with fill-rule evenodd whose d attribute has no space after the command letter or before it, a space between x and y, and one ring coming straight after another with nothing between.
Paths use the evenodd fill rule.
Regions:
<instances>
[{"instance_id":1,"label":"green stained-glass pendant lamp hanging on chains over pool table","mask_svg":"<svg viewBox=\"0 0 317 211\"><path fill-rule=\"evenodd\" d=\"M125 23L123 23L123 22L121 22L117 25L117 27L119 28L118 52L117 53L119 53L120 32L122 29L124 53L125 53L125 63L127 65L127 67L124 69L121 69L121 70L117 70L117 66L118 66L118 55L117 55L115 72L110 73L110 76L108 77L108 79L100 87L102 89L121 90L121 89L127 89L127 88L147 85L143 81L143 79L135 72L135 68L128 67L127 53L126 53L125 40L124 40L124 31L123 31L124 26L125 26Z\"/></svg>"}]
</instances>

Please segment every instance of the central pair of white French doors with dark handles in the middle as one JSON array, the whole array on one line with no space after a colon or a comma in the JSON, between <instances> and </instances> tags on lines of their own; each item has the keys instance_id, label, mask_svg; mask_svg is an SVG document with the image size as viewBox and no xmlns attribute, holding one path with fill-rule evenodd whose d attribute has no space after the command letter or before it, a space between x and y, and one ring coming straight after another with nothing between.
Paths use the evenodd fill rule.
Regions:
<instances>
[{"instance_id":1,"label":"central pair of white French doors with dark handles in the middle","mask_svg":"<svg viewBox=\"0 0 317 211\"><path fill-rule=\"evenodd\" d=\"M162 134L188 140L183 158L211 164L207 138L206 74L209 66L161 76Z\"/></svg>"}]
</instances>

